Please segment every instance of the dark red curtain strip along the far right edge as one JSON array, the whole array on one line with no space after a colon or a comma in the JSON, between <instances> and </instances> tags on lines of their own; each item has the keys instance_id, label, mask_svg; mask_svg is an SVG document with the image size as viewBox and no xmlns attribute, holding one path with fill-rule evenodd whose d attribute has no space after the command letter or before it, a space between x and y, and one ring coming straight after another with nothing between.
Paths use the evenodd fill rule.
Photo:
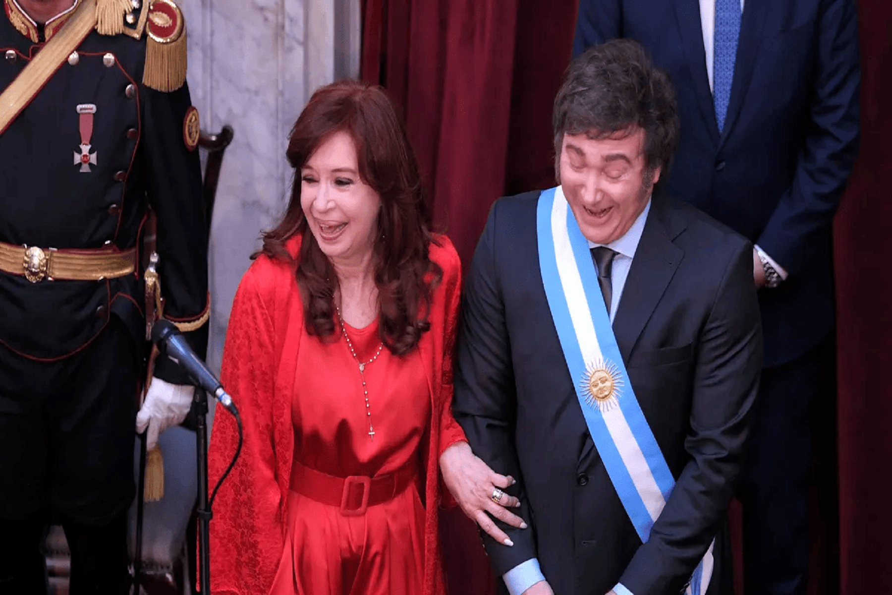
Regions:
<instances>
[{"instance_id":1,"label":"dark red curtain strip along the far right edge","mask_svg":"<svg viewBox=\"0 0 892 595\"><path fill-rule=\"evenodd\" d=\"M892 584L892 4L860 0L861 154L835 227L841 592Z\"/></svg>"}]
</instances>

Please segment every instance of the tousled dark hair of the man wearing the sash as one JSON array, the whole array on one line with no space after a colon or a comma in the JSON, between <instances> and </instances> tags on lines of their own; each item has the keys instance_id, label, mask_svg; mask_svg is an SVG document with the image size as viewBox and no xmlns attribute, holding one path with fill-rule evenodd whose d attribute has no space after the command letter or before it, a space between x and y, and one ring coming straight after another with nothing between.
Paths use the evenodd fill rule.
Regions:
<instances>
[{"instance_id":1,"label":"tousled dark hair of the man wearing the sash","mask_svg":"<svg viewBox=\"0 0 892 595\"><path fill-rule=\"evenodd\" d=\"M632 39L614 39L578 56L564 73L552 116L555 171L560 182L564 135L605 138L633 126L644 129L644 156L652 173L668 172L678 146L679 119L669 75Z\"/></svg>"}]
</instances>

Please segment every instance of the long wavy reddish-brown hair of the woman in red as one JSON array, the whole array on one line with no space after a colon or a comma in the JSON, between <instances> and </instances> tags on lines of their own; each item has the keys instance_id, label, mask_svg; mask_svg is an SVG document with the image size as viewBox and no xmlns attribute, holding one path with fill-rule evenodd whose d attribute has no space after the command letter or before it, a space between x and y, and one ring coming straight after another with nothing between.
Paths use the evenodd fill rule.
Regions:
<instances>
[{"instance_id":1,"label":"long wavy reddish-brown hair of the woman in red","mask_svg":"<svg viewBox=\"0 0 892 595\"><path fill-rule=\"evenodd\" d=\"M291 131L285 155L294 169L285 215L263 235L262 253L294 264L310 335L335 335L337 276L319 248L301 209L301 168L328 136L344 131L356 144L359 177L381 196L374 252L381 341L395 355L411 351L430 328L428 315L442 269L430 260L434 237L427 228L426 207L415 153L406 128L380 87L342 80L320 87ZM285 243L301 236L293 259Z\"/></svg>"}]
</instances>

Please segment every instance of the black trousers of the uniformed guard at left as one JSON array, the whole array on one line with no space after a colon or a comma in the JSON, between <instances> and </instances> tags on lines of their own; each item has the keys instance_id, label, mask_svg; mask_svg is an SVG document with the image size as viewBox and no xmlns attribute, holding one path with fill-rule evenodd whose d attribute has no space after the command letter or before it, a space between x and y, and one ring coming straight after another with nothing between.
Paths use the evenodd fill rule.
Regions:
<instances>
[{"instance_id":1,"label":"black trousers of the uniformed guard at left","mask_svg":"<svg viewBox=\"0 0 892 595\"><path fill-rule=\"evenodd\" d=\"M56 362L0 346L0 593L46 592L50 522L69 542L71 595L128 592L138 376L117 318Z\"/></svg>"}]
</instances>

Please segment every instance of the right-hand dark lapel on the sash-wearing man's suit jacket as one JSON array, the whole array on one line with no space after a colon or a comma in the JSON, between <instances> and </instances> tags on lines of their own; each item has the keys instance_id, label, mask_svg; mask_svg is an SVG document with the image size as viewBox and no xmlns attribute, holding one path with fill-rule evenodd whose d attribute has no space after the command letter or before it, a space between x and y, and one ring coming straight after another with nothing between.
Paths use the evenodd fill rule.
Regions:
<instances>
[{"instance_id":1,"label":"right-hand dark lapel on the sash-wearing man's suit jacket","mask_svg":"<svg viewBox=\"0 0 892 595\"><path fill-rule=\"evenodd\" d=\"M616 343L627 364L641 331L684 257L681 248L672 243L683 229L667 220L662 199L654 197L613 324Z\"/></svg>"}]
</instances>

